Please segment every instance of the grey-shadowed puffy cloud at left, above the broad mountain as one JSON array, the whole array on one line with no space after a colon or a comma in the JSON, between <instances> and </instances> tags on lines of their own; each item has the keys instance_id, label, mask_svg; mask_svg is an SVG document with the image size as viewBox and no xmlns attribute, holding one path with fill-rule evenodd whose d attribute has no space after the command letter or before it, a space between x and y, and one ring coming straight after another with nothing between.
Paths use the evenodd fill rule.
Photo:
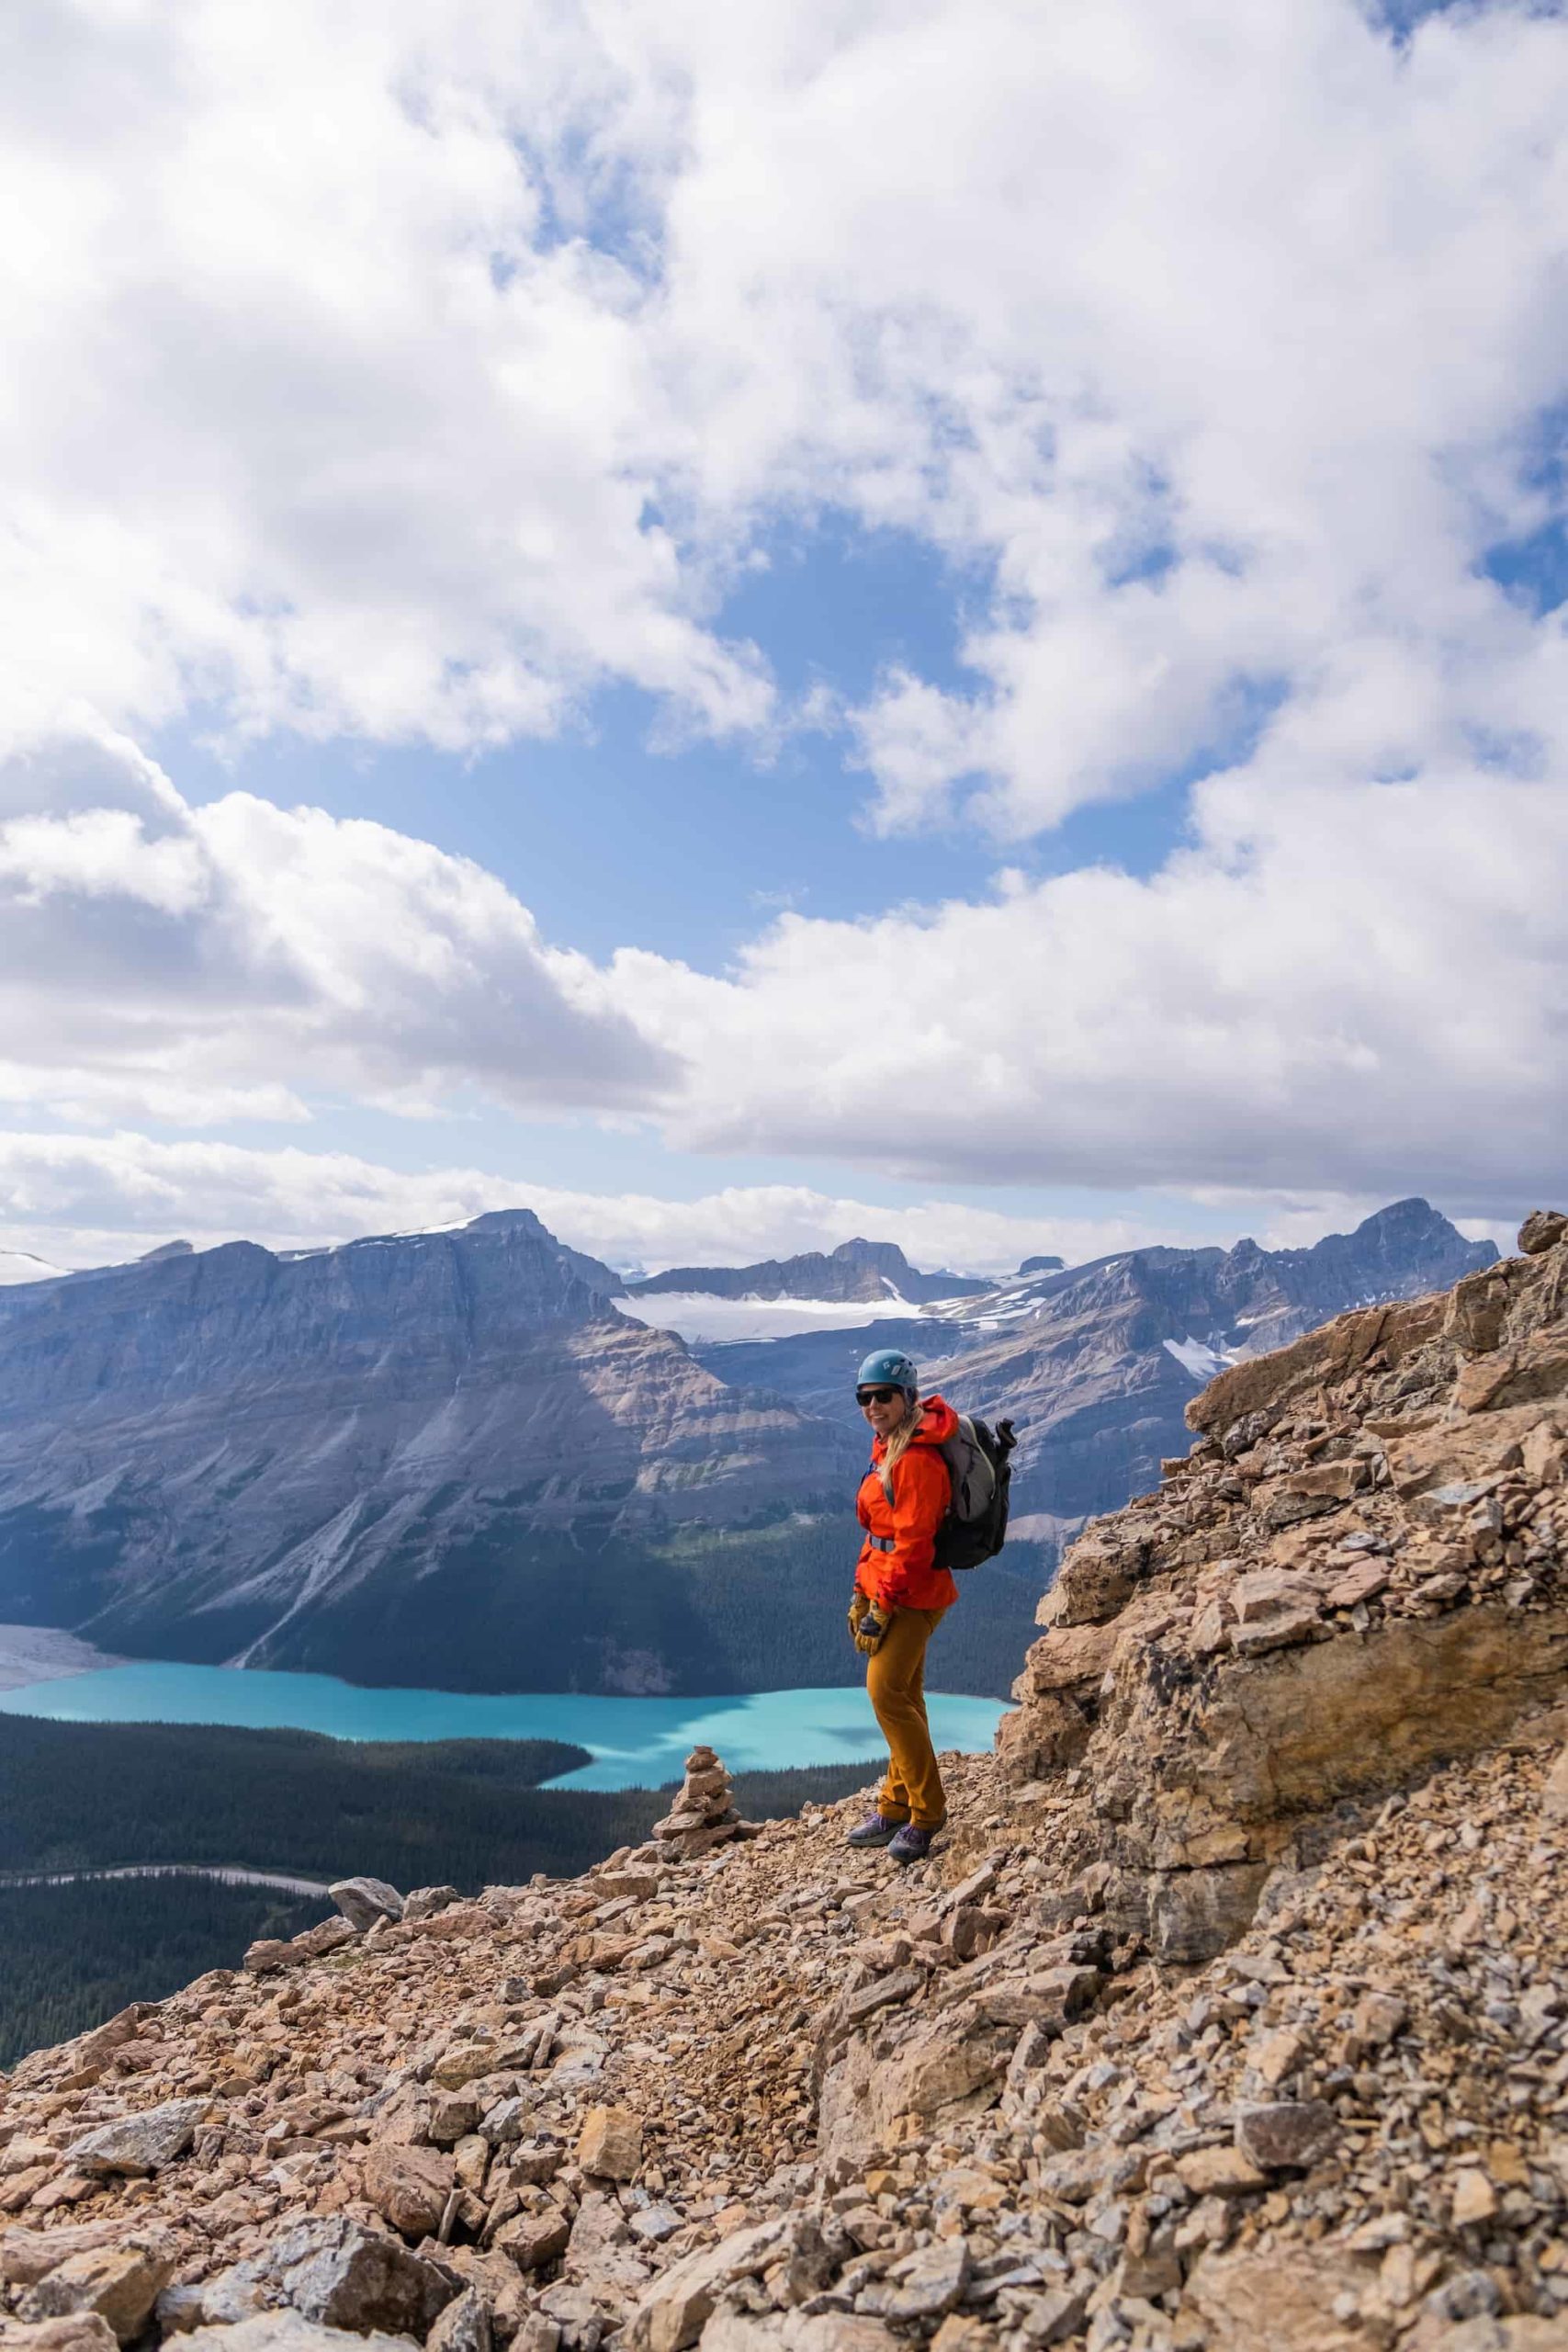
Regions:
<instances>
[{"instance_id":1,"label":"grey-shadowed puffy cloud at left, above the broad mountain","mask_svg":"<svg viewBox=\"0 0 1568 2352\"><path fill-rule=\"evenodd\" d=\"M5 811L12 814L5 814ZM249 793L188 807L132 746L0 769L0 1101L56 1117L628 1110L675 1063L468 858Z\"/></svg>"}]
</instances>

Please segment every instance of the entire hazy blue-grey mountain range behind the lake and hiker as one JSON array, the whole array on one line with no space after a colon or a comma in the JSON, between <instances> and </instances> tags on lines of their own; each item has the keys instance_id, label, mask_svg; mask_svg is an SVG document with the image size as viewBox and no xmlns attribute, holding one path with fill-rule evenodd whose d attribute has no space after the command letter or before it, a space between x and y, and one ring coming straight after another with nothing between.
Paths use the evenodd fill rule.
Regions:
<instances>
[{"instance_id":1,"label":"entire hazy blue-grey mountain range behind the lake and hiker","mask_svg":"<svg viewBox=\"0 0 1568 2352\"><path fill-rule=\"evenodd\" d=\"M527 1209L169 1244L0 1291L0 1618L447 1689L846 1682L853 1374L896 1343L1023 1435L1016 1538L943 1630L943 1684L1001 1691L1060 1541L1185 1451L1222 1364L1490 1258L1415 1200L1004 1282L849 1242L625 1284ZM759 1294L778 1336L703 1336Z\"/></svg>"}]
</instances>

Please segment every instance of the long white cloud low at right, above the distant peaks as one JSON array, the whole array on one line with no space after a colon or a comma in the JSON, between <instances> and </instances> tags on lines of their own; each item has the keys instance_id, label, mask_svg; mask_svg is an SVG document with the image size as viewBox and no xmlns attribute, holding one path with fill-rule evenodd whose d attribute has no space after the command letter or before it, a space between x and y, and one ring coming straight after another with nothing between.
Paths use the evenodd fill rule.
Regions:
<instances>
[{"instance_id":1,"label":"long white cloud low at right, above the distant peaks","mask_svg":"<svg viewBox=\"0 0 1568 2352\"><path fill-rule=\"evenodd\" d=\"M1284 753L1279 757L1286 757ZM1147 882L785 915L712 978L616 957L696 1150L914 1183L1232 1185L1474 1214L1568 1164L1568 790L1476 774L1199 788Z\"/></svg>"}]
</instances>

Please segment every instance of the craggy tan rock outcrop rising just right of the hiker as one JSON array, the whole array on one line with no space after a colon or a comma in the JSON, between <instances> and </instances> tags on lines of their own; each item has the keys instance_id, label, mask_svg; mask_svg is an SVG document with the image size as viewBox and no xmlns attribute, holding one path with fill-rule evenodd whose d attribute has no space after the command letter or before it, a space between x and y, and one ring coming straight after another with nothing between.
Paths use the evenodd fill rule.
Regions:
<instances>
[{"instance_id":1,"label":"craggy tan rock outcrop rising just right of the hiker","mask_svg":"<svg viewBox=\"0 0 1568 2352\"><path fill-rule=\"evenodd\" d=\"M1347 1797L1495 1745L1568 1670L1561 1237L1220 1374L1190 1454L1067 1552L1004 1726L1081 1766L1112 1907L1234 1933Z\"/></svg>"}]
</instances>

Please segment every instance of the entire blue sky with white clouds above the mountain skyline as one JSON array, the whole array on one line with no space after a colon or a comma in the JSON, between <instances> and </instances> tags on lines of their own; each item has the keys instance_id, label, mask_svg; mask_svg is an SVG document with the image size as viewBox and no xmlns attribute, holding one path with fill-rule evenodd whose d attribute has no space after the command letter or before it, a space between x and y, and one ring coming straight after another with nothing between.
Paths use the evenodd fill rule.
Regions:
<instances>
[{"instance_id":1,"label":"entire blue sky with white clouds above the mountain skyline","mask_svg":"<svg viewBox=\"0 0 1568 2352\"><path fill-rule=\"evenodd\" d=\"M0 1251L1561 1185L1568 26L1222 16L24 9Z\"/></svg>"}]
</instances>

